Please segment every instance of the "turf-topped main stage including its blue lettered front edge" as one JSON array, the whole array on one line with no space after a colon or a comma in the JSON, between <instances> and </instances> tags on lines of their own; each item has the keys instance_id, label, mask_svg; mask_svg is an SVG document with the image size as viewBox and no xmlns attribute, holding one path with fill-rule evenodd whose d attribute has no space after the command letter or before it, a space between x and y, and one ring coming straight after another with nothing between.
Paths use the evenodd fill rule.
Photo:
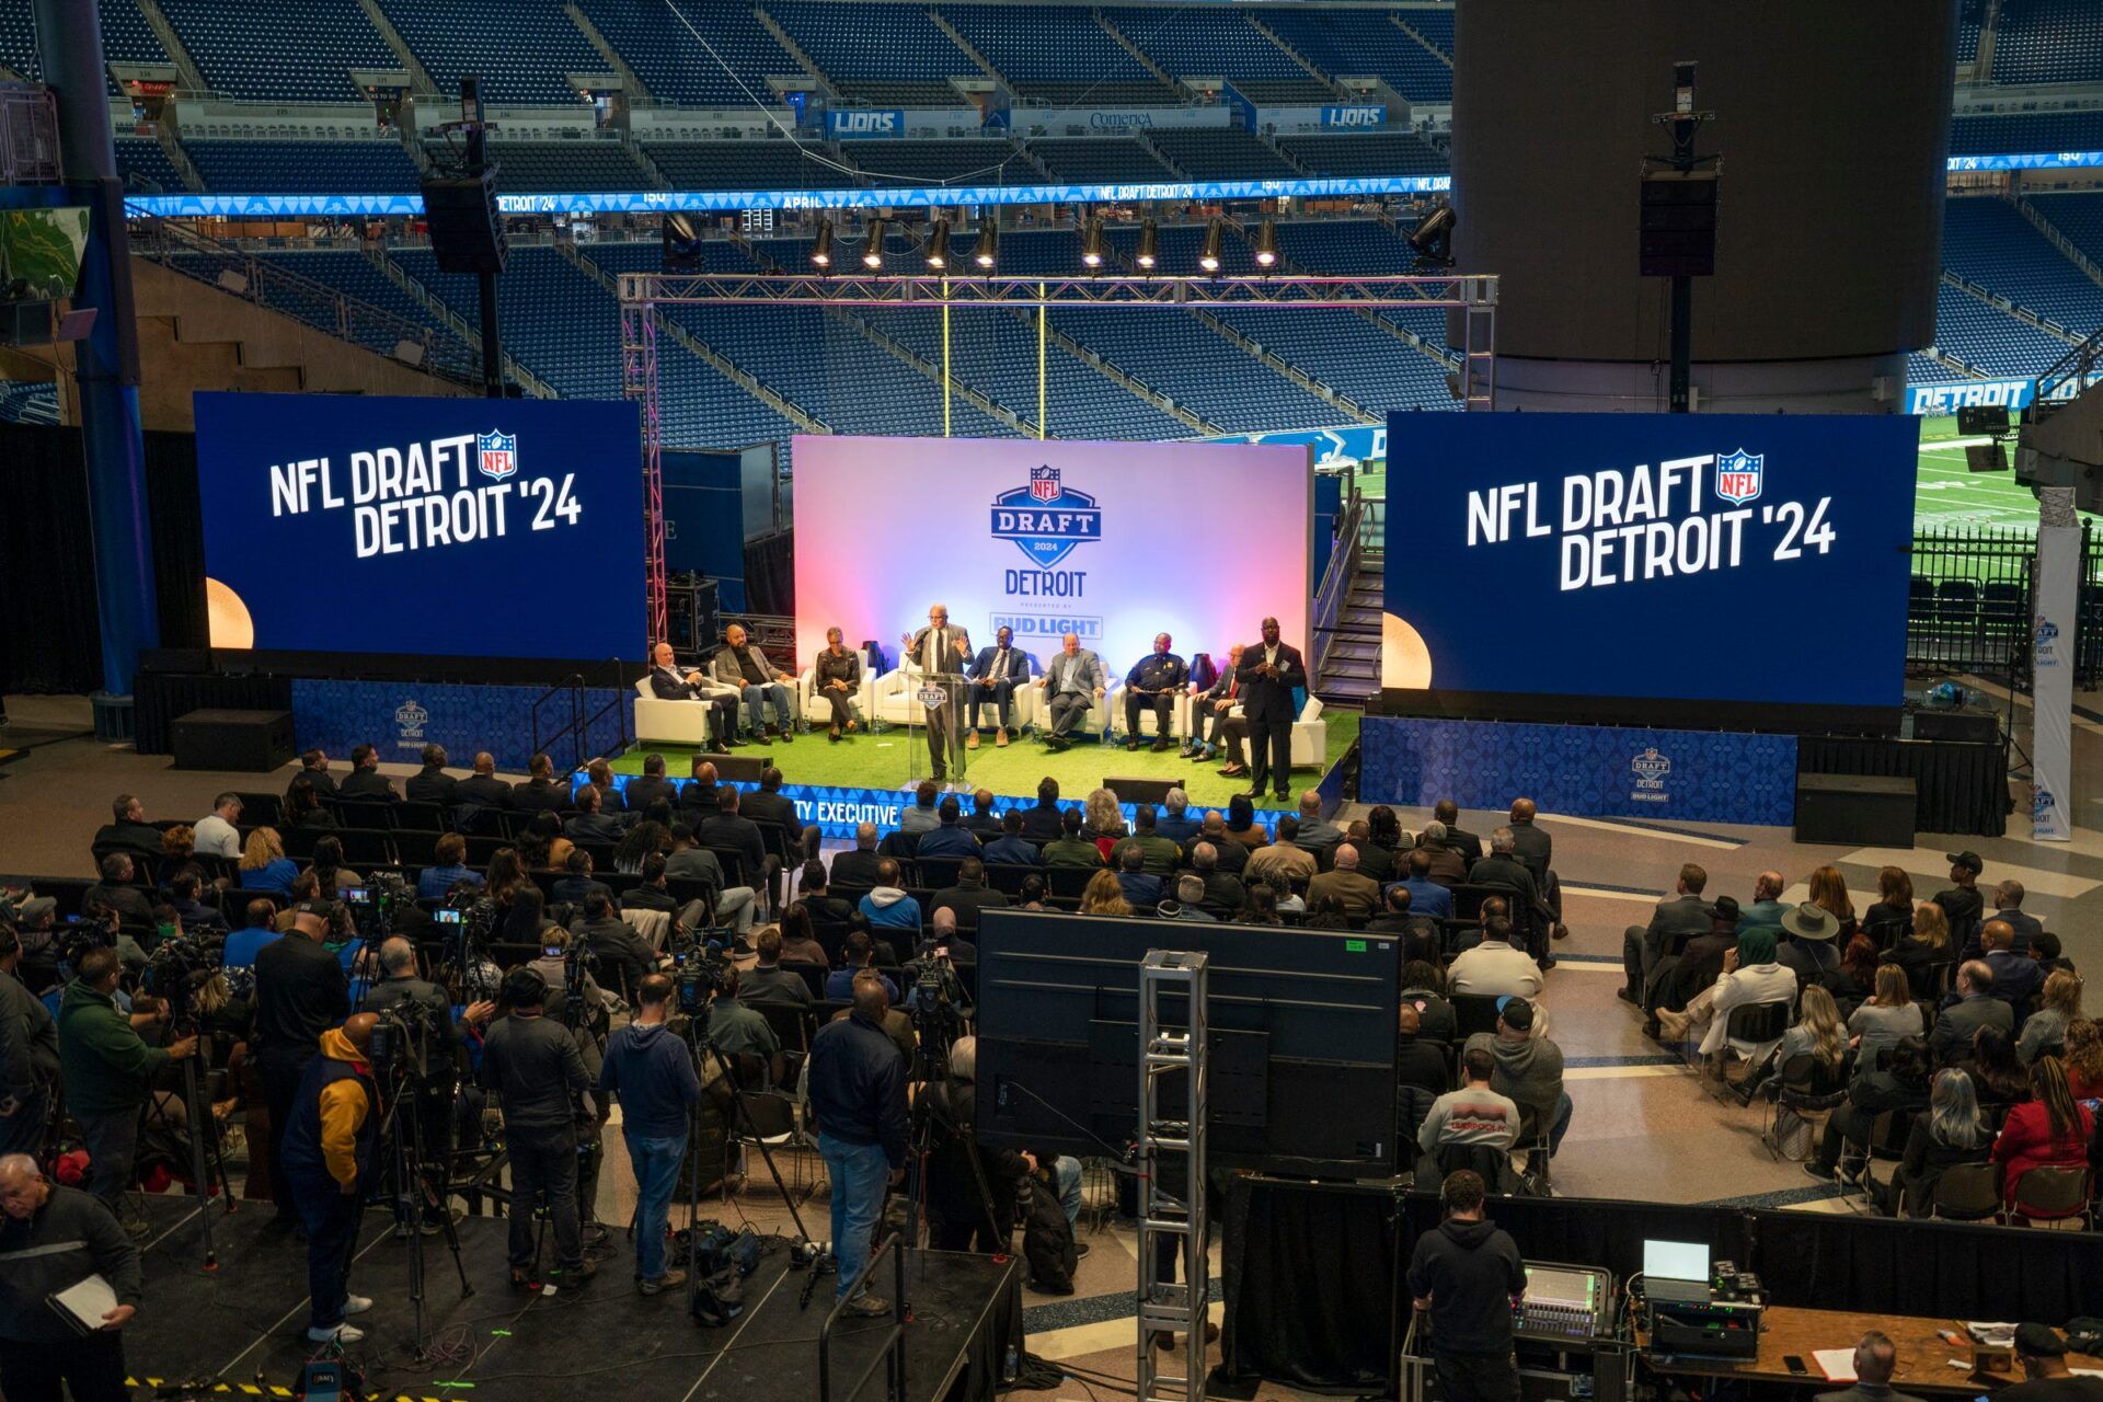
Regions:
<instances>
[{"instance_id":1,"label":"turf-topped main stage including its blue lettered front edge","mask_svg":"<svg viewBox=\"0 0 2103 1402\"><path fill-rule=\"evenodd\" d=\"M1338 761L1359 738L1356 713L1325 710L1323 719L1329 723L1329 740L1321 769L1310 765L1295 767L1295 795L1316 788L1329 778ZM646 742L612 761L614 774L641 774L644 755L662 755L665 771L673 780L683 780L690 771L688 757L694 750L690 746ZM803 811L803 822L816 822L824 828L826 837L852 839L856 822L875 822L879 830L898 824L898 809L908 803L904 788L917 774L927 771L927 736L919 729L908 734L904 727L892 727L883 734L858 734L833 744L824 738L822 729L816 729L797 736L795 744L782 744L780 740L774 744L747 744L740 750L732 750L732 755L736 759L757 759L759 763L778 765L782 771L782 792L797 803L810 805ZM1070 807L1079 807L1081 799L1091 788L1098 788L1104 778L1136 776L1182 784L1190 795L1192 809L1224 811L1232 795L1247 792L1249 780L1220 778L1222 765L1226 765L1224 755L1205 765L1178 759L1176 750L1157 755L1146 746L1127 750L1121 744L1096 744L1094 740L1079 740L1070 750L1060 755L1047 750L1035 736L1024 736L1009 742L1007 748L999 748L993 744L993 731L986 729L980 748L965 752L963 771L953 774L951 780L961 782L965 788L991 788L997 797L995 807L1005 809L1014 803L1035 803L1037 784L1047 774L1058 780L1060 803L1068 803ZM1123 799L1129 818L1134 807L1131 797L1119 795L1119 799ZM1268 828L1281 813L1293 807L1279 805L1266 797L1258 805L1258 820ZM969 801L965 801L965 809L969 811Z\"/></svg>"}]
</instances>

